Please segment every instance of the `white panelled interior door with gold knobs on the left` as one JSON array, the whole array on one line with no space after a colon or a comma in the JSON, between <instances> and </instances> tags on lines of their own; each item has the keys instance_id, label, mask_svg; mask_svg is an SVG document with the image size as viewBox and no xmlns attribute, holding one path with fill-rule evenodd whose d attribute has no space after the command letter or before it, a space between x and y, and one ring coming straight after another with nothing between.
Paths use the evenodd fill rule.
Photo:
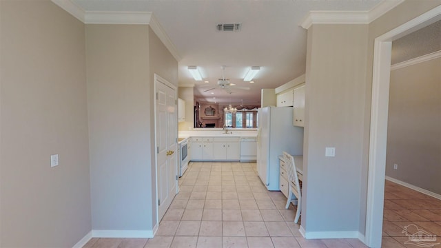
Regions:
<instances>
[{"instance_id":1,"label":"white panelled interior door with gold knobs on the left","mask_svg":"<svg viewBox=\"0 0 441 248\"><path fill-rule=\"evenodd\" d=\"M178 178L176 87L155 75L158 220L176 195Z\"/></svg>"}]
</instances>

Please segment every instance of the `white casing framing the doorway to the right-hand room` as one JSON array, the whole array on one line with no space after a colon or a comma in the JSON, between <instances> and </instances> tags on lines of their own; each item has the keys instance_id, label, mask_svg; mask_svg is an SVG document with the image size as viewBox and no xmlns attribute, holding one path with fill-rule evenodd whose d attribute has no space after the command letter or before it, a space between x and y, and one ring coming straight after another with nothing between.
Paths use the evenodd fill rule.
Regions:
<instances>
[{"instance_id":1,"label":"white casing framing the doorway to the right-hand room","mask_svg":"<svg viewBox=\"0 0 441 248\"><path fill-rule=\"evenodd\" d=\"M379 227L382 227L384 205L392 41L440 19L441 6L438 6L382 34L374 42L365 233L365 243L369 247L380 247L382 241L382 228Z\"/></svg>"}]
</instances>

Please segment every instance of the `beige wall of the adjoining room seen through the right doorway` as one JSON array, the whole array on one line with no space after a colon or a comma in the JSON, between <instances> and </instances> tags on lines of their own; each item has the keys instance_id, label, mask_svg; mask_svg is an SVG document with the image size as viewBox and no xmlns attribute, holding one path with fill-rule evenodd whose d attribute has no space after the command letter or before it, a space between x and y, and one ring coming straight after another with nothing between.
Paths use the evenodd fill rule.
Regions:
<instances>
[{"instance_id":1,"label":"beige wall of the adjoining room seen through the right doorway","mask_svg":"<svg viewBox=\"0 0 441 248\"><path fill-rule=\"evenodd\" d=\"M441 59L433 59L391 71L386 157L386 176L436 194L441 194L440 68Z\"/></svg>"}]
</instances>

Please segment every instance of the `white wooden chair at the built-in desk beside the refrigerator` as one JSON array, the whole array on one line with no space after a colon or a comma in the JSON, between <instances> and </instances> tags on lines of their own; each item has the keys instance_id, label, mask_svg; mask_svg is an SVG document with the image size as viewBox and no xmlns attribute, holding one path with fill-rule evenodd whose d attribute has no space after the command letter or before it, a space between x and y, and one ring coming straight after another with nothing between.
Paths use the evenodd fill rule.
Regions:
<instances>
[{"instance_id":1,"label":"white wooden chair at the built-in desk beside the refrigerator","mask_svg":"<svg viewBox=\"0 0 441 248\"><path fill-rule=\"evenodd\" d=\"M302 193L300 183L298 182L296 163L294 163L294 157L287 152L283 152L283 158L285 160L285 165L287 166L289 180L289 193L285 208L288 209L290 203L297 205L296 218L294 218L294 223L297 223L298 218L300 218L300 211L302 210Z\"/></svg>"}]
</instances>

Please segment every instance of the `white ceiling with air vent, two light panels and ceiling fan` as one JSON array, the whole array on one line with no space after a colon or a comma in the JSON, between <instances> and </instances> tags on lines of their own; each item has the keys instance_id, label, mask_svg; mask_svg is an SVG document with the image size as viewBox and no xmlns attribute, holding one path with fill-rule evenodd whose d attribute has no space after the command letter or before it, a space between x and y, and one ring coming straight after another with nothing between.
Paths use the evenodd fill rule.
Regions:
<instances>
[{"instance_id":1,"label":"white ceiling with air vent, two light panels and ceiling fan","mask_svg":"<svg viewBox=\"0 0 441 248\"><path fill-rule=\"evenodd\" d=\"M306 30L299 24L310 10L371 10L380 0L72 0L85 11L153 12L176 46L179 85L196 85L195 95L218 103L260 103L262 88L275 88L305 73ZM218 32L218 23L242 23L240 32ZM209 83L197 82L187 66L197 65ZM216 89L225 77L250 90ZM255 83L243 81L253 65ZM206 86L206 87L205 87ZM234 87L234 86L232 86ZM204 101L204 100L203 100Z\"/></svg>"}]
</instances>

